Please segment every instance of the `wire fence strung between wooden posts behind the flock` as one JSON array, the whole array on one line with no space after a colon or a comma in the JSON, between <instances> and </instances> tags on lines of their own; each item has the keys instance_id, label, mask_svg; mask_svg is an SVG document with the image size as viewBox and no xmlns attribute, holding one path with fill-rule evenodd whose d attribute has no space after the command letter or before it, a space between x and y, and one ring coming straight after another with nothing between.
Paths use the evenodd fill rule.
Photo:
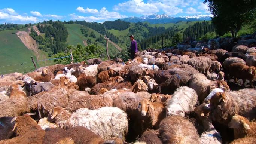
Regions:
<instances>
[{"instance_id":1,"label":"wire fence strung between wooden posts behind the flock","mask_svg":"<svg viewBox=\"0 0 256 144\"><path fill-rule=\"evenodd\" d=\"M121 58L123 61L127 61L129 58L131 58L130 57L131 55L129 53L129 47L127 48L127 50L124 50L124 51L119 51L118 49L108 49L108 51L109 51L110 60L114 60L116 58ZM106 51L85 53L85 54L81 54L79 56L88 57L88 55L96 55L91 58L101 58L104 60L107 59ZM75 55L73 55L73 57L75 57ZM61 61L56 61L57 59L60 59ZM84 59L84 60L88 60L88 59ZM63 61L63 60L65 60L65 61ZM59 57L59 58L36 60L34 62L36 63L36 67L40 68L40 67L46 67L46 66L55 65L55 64L67 65L72 62L72 59L71 59L71 55L69 55L69 56L63 56L63 57ZM73 62L77 63L77 62L81 62L81 61L79 61L78 58L73 58ZM0 75L7 74L7 73L14 73L14 72L19 72L19 73L25 74L25 73L28 73L28 72L31 72L34 70L35 70L35 67L34 67L33 61L19 62L17 64L8 64L8 65L0 66Z\"/></svg>"}]
</instances>

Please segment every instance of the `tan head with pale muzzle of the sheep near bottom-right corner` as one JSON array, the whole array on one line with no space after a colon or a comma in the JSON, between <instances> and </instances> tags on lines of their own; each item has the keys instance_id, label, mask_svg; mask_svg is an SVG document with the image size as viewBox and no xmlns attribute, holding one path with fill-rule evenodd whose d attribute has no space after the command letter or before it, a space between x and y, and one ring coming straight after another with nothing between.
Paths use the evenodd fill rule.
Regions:
<instances>
[{"instance_id":1,"label":"tan head with pale muzzle of the sheep near bottom-right corner","mask_svg":"<svg viewBox=\"0 0 256 144\"><path fill-rule=\"evenodd\" d=\"M250 129L250 126L248 125L250 122L243 116L239 116L235 114L235 116L232 116L231 121L228 123L229 128L236 128L236 129Z\"/></svg>"}]
</instances>

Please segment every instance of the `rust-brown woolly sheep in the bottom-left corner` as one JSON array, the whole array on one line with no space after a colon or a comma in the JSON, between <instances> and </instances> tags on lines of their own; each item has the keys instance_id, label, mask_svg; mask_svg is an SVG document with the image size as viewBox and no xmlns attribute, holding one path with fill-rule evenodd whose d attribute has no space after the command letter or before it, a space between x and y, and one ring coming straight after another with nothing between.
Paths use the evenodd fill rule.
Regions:
<instances>
[{"instance_id":1,"label":"rust-brown woolly sheep in the bottom-left corner","mask_svg":"<svg viewBox=\"0 0 256 144\"><path fill-rule=\"evenodd\" d=\"M12 139L1 140L0 144L42 144L45 131L28 114L12 119L16 121L13 130L18 135ZM33 142L31 141L33 140Z\"/></svg>"}]
</instances>

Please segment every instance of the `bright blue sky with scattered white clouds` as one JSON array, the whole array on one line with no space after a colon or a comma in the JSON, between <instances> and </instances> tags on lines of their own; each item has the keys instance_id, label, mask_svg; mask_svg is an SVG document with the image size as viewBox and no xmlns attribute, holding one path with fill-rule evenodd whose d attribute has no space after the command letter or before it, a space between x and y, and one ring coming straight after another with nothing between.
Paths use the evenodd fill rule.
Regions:
<instances>
[{"instance_id":1,"label":"bright blue sky with scattered white clouds","mask_svg":"<svg viewBox=\"0 0 256 144\"><path fill-rule=\"evenodd\" d=\"M203 0L35 0L1 1L0 23L44 20L104 22L131 16L167 14L173 17L210 15Z\"/></svg>"}]
</instances>

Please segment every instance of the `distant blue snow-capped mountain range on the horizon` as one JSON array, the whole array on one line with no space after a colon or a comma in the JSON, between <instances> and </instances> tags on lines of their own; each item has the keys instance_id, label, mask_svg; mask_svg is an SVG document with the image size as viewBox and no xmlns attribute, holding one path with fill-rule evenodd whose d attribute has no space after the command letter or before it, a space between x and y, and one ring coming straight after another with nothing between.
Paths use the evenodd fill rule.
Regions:
<instances>
[{"instance_id":1,"label":"distant blue snow-capped mountain range on the horizon","mask_svg":"<svg viewBox=\"0 0 256 144\"><path fill-rule=\"evenodd\" d=\"M164 23L176 23L178 21L208 21L211 20L211 15L193 15L193 16L180 16L180 17L170 17L166 14L162 15L146 15L141 17L129 17L121 20L127 22L149 22L150 24L164 24Z\"/></svg>"}]
</instances>

